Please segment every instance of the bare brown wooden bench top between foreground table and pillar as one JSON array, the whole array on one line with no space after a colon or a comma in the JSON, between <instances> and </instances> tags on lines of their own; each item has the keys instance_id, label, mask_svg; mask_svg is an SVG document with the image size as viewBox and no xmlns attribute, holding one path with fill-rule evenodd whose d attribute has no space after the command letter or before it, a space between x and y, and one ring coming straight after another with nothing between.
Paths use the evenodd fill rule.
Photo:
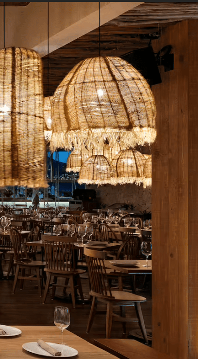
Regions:
<instances>
[{"instance_id":1,"label":"bare brown wooden bench top between foreground table and pillar","mask_svg":"<svg viewBox=\"0 0 198 359\"><path fill-rule=\"evenodd\" d=\"M94 343L120 359L172 359L132 339L94 339Z\"/></svg>"}]
</instances>

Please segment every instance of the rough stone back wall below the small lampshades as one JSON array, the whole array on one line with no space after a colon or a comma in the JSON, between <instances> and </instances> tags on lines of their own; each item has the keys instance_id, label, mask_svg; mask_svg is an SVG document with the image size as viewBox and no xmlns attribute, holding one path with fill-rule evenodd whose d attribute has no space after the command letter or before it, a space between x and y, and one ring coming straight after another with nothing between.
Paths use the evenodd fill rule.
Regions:
<instances>
[{"instance_id":1,"label":"rough stone back wall below the small lampshades","mask_svg":"<svg viewBox=\"0 0 198 359\"><path fill-rule=\"evenodd\" d=\"M135 184L99 187L87 185L86 187L95 189L98 202L106 203L107 206L113 206L116 203L116 207L118 207L118 203L121 205L127 203L136 206L134 212L151 211L151 187L143 188L142 185L136 186Z\"/></svg>"}]
</instances>

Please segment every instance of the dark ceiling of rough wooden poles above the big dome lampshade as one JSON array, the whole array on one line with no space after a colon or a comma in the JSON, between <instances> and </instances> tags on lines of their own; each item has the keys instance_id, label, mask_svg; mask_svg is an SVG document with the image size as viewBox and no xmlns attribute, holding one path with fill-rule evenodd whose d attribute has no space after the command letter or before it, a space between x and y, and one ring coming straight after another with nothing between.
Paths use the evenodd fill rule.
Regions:
<instances>
[{"instance_id":1,"label":"dark ceiling of rough wooden poles above the big dome lampshade","mask_svg":"<svg viewBox=\"0 0 198 359\"><path fill-rule=\"evenodd\" d=\"M100 54L121 56L148 47L164 27L188 18L198 18L198 2L145 2L100 27ZM95 56L99 56L99 28L43 57L44 96L53 95L78 62Z\"/></svg>"}]
</instances>

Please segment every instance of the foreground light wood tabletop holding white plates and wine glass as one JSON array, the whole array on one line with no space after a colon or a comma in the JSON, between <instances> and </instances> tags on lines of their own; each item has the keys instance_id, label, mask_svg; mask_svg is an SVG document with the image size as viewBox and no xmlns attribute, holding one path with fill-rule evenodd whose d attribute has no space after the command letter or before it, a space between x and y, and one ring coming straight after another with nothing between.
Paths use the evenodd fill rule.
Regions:
<instances>
[{"instance_id":1,"label":"foreground light wood tabletop holding white plates and wine glass","mask_svg":"<svg viewBox=\"0 0 198 359\"><path fill-rule=\"evenodd\" d=\"M13 326L15 327L15 326ZM60 343L61 331L55 326L16 326L22 333L16 337L0 337L0 358L2 359L23 359L23 358L45 358L31 354L22 348L22 344L37 342L43 339L45 342ZM64 343L78 350L77 359L116 359L112 354L88 343L77 335L64 330ZM61 357L53 357L61 358Z\"/></svg>"}]
</instances>

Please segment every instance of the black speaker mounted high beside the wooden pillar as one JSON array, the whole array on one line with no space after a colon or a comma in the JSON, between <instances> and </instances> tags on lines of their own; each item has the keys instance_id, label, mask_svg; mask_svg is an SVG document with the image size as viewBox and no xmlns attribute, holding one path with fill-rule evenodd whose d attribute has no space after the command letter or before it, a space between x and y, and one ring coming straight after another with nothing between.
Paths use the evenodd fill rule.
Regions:
<instances>
[{"instance_id":1,"label":"black speaker mounted high beside the wooden pillar","mask_svg":"<svg viewBox=\"0 0 198 359\"><path fill-rule=\"evenodd\" d=\"M151 46L139 48L120 57L131 63L132 66L146 78L150 86L162 82L155 54Z\"/></svg>"}]
</instances>

